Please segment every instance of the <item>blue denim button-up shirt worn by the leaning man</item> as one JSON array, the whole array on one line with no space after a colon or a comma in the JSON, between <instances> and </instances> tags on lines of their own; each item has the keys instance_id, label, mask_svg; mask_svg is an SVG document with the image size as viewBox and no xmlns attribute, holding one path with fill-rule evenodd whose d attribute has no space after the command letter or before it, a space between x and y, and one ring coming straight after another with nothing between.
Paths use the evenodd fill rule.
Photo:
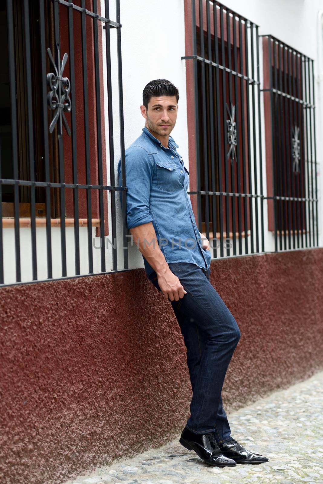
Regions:
<instances>
[{"instance_id":1,"label":"blue denim button-up shirt worn by the leaning man","mask_svg":"<svg viewBox=\"0 0 323 484\"><path fill-rule=\"evenodd\" d=\"M191 262L208 269L211 253L202 247L187 193L189 171L169 136L168 148L145 126L143 133L125 151L127 227L152 222L166 262ZM121 160L117 166L121 186ZM122 210L122 192L120 191ZM136 242L136 241L135 241ZM149 244L151 241L147 241ZM144 258L147 276L154 269Z\"/></svg>"}]
</instances>

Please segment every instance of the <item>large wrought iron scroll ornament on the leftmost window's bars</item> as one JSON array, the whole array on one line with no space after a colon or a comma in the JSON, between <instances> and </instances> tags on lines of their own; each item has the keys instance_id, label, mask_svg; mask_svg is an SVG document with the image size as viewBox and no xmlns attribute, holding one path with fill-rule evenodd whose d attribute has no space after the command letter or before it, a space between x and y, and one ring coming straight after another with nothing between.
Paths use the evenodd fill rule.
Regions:
<instances>
[{"instance_id":1,"label":"large wrought iron scroll ornament on the leftmost window's bars","mask_svg":"<svg viewBox=\"0 0 323 484\"><path fill-rule=\"evenodd\" d=\"M51 72L47 74L47 84L51 89L47 94L47 103L50 109L55 110L54 117L49 126L49 132L52 133L54 131L55 125L59 120L59 135L62 135L63 132L63 122L68 136L71 136L71 130L64 115L64 111L69 113L72 109L72 103L69 97L71 83L68 77L62 77L68 55L65 52L61 63L57 67L50 48L47 49L47 54L56 73ZM60 59L59 50L58 59Z\"/></svg>"}]
</instances>

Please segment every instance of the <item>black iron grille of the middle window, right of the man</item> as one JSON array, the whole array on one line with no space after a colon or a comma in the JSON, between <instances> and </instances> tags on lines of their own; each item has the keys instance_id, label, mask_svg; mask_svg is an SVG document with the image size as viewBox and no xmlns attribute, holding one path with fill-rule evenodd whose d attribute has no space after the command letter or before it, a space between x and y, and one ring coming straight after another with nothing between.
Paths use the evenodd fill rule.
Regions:
<instances>
[{"instance_id":1,"label":"black iron grille of the middle window, right of the man","mask_svg":"<svg viewBox=\"0 0 323 484\"><path fill-rule=\"evenodd\" d=\"M201 231L202 197L205 197L206 238L209 239L211 211L213 238L215 237L217 220L219 220L220 257L223 257L224 223L226 239L228 240L230 238L229 199L231 198L233 254L237 255L235 236L235 199L237 199L239 255L242 254L242 227L244 227L245 233L245 254L249 252L254 253L255 251L260 252L260 250L264 252L264 195L262 180L258 26L244 16L238 15L233 10L224 7L220 2L210 0L199 0L198 12L196 12L195 0L191 0L191 18L192 55L183 56L182 59L193 61L197 190L190 191L189 194L197 196L198 227ZM204 25L204 19L206 18L206 32L204 28L200 28L199 39L197 38L197 18L199 19L200 26ZM218 32L218 20L220 23L220 32ZM226 31L224 27L225 20ZM211 30L213 30L213 35L211 35ZM218 41L219 37L220 41ZM201 55L198 55L198 41ZM229 46L227 48L227 55L225 52L225 43ZM198 63L200 66L198 66ZM200 90L198 90L199 70L201 72ZM220 83L222 84L222 93L220 92ZM209 107L206 106L206 86L214 86L211 89L208 87ZM229 102L227 102L227 98ZM200 116L199 112L202 112ZM202 126L202 136L199 135L200 126ZM220 129L220 126L223 126L223 128ZM258 135L256 133L256 126ZM203 150L202 165L200 163L201 145L207 147L207 150ZM253 166L251 166L252 158ZM235 160L236 166L236 168L231 169L230 181L226 163L229 159L231 160L231 166L233 166L233 160ZM224 165L224 190L221 190L223 186L222 163ZM201 166L204 167L205 190L201 190ZM211 178L209 178L209 166ZM251 179L252 171L253 180ZM238 190L235 190L235 176ZM252 185L254 187L254 193L251 193ZM217 190L217 187L220 187L220 190ZM211 207L209 206L208 196L211 196ZM218 206L216 197L218 197ZM223 197L225 199L225 220L223 220L221 210ZM253 200L255 200L254 204ZM260 220L258 200L260 201ZM250 247L247 237L248 210L250 214ZM253 214L255 215L255 220L253 220ZM254 236L256 241L255 247ZM259 240L260 238L261 241ZM213 257L218 257L217 247L213 247L212 250ZM226 255L230 256L230 248L227 248Z\"/></svg>"}]
</instances>

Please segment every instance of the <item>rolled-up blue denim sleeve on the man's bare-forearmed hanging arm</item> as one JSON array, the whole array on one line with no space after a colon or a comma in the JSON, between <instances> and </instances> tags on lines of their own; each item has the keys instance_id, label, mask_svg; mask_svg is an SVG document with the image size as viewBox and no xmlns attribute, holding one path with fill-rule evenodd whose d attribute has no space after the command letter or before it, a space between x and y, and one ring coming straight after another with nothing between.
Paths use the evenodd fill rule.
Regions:
<instances>
[{"instance_id":1,"label":"rolled-up blue denim sleeve on the man's bare-forearmed hanging arm","mask_svg":"<svg viewBox=\"0 0 323 484\"><path fill-rule=\"evenodd\" d=\"M145 148L132 146L125 154L126 186L127 186L127 227L152 222L149 211L149 197L154 172L154 162ZM118 163L119 185L121 186L121 160ZM122 208L122 191L120 191Z\"/></svg>"}]
</instances>

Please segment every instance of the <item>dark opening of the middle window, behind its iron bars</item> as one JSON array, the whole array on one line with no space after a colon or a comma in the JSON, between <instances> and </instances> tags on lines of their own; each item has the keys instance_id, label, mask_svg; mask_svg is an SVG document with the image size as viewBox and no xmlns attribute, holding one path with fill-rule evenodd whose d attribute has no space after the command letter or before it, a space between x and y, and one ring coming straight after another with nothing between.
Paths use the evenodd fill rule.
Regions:
<instances>
[{"instance_id":1,"label":"dark opening of the middle window, behind its iron bars","mask_svg":"<svg viewBox=\"0 0 323 484\"><path fill-rule=\"evenodd\" d=\"M219 10L219 9L218 9ZM226 23L226 17L224 16ZM227 38L223 41L224 48L222 49L220 32L218 32L217 41L217 55L220 66L229 67L237 72L245 72L245 33L244 23L241 23L241 40L240 48L239 41L239 22L235 20L235 45L233 44L233 18L231 18L231 42L230 42L230 59L229 47ZM207 34L204 32L204 53L201 51L200 29L196 30L196 45L197 55L200 57L207 57L208 60L216 62L216 47L214 42L214 35L211 35L211 56L206 55ZM224 50L224 56L223 51ZM236 57L235 57L236 56ZM230 61L230 62L229 62ZM212 66L213 74L209 76L209 64L206 62L198 62L197 81L198 81L198 108L199 108L199 160L200 160L200 189L201 191L217 191L217 192L231 192L231 193L251 193L251 184L249 180L249 163L248 150L243 151L242 139L242 123L245 130L249 129L247 123L247 83L245 79L237 76L234 78L229 72L224 74L224 89L223 89L223 69L219 69L219 82L217 86L216 68ZM203 72L204 71L204 72ZM231 76L231 79L230 79ZM203 81L204 79L204 81ZM205 93L203 93L203 90ZM243 93L244 102L241 102L241 92ZM205 94L205 105L203 102ZM225 104L223 99L225 96ZM213 101L211 106L211 100ZM217 116L217 109L219 109L220 116ZM204 110L206 115L206 143L204 142L205 125L203 123ZM211 115L212 120L211 120ZM228 121L235 123L235 139L234 143L228 143ZM237 126L238 124L238 126ZM212 127L212 131L211 131ZM220 132L218 136L217 132ZM246 134L246 131L245 131ZM214 161L211 156L211 136L214 142ZM220 139L220 141L219 141ZM220 149L219 149L220 144ZM228 153L231 150L229 157ZM220 158L219 158L220 153ZM205 177L205 166L207 164L207 181ZM212 166L212 164L214 166ZM219 170L221 173L219 174ZM212 175L213 171L213 175ZM227 171L227 174L226 174ZM221 178L221 183L220 183ZM209 221L209 230L213 233L213 210L212 206L213 196L201 197L201 212L202 212L202 231L206 232L206 219ZM207 198L208 207L207 210ZM238 204L240 203L240 207ZM215 197L216 204L216 227L215 232L220 232L220 198ZM234 204L234 207L233 207ZM226 200L222 198L222 213L227 210ZM229 231L233 232L233 213L238 214L240 211L240 220L247 219L247 229L250 229L250 207L249 204L241 203L238 197L228 197L228 211L229 211ZM208 215L207 215L208 213ZM235 216L235 232L239 230L239 221ZM215 237L215 235L213 235Z\"/></svg>"}]
</instances>

